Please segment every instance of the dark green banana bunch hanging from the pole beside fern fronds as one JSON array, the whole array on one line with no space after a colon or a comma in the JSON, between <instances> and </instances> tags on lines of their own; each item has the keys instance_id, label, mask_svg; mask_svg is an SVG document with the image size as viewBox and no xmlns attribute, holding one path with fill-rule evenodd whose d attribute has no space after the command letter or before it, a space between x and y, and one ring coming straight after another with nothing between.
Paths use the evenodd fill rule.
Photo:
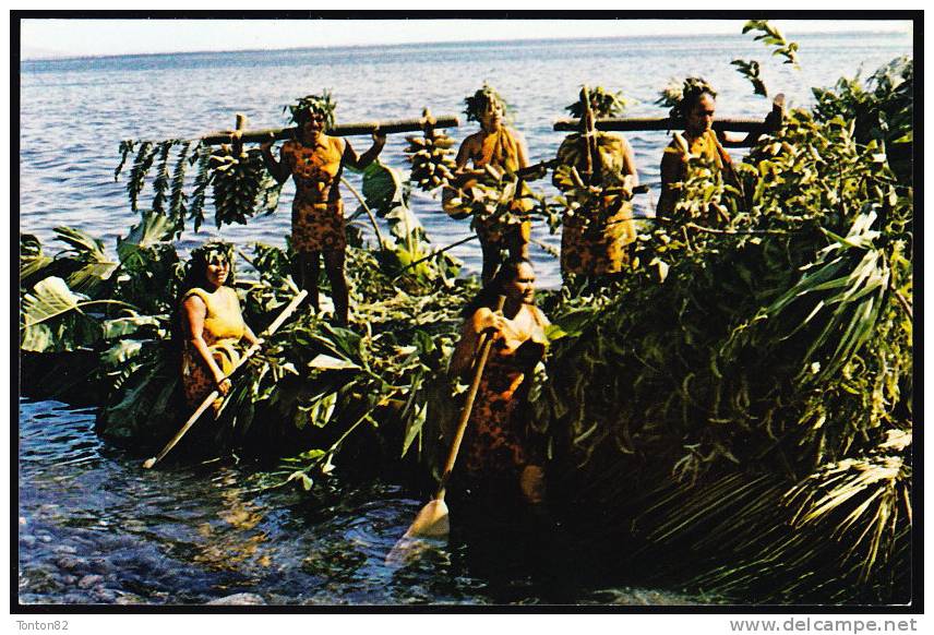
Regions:
<instances>
[{"instance_id":1,"label":"dark green banana bunch hanging from the pole beside fern fronds","mask_svg":"<svg viewBox=\"0 0 934 635\"><path fill-rule=\"evenodd\" d=\"M229 148L221 148L211 155L209 169L217 227L234 223L246 225L258 212L275 211L279 184L266 170L259 149L238 156Z\"/></svg>"}]
</instances>

